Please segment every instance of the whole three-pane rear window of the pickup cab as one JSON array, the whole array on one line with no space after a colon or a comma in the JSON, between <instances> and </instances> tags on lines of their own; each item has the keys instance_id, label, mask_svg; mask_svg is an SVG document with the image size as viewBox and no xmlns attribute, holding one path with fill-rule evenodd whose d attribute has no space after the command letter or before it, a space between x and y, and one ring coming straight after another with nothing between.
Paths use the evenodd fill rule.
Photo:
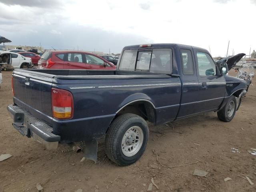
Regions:
<instances>
[{"instance_id":1,"label":"whole three-pane rear window of the pickup cab","mask_svg":"<svg viewBox=\"0 0 256 192\"><path fill-rule=\"evenodd\" d=\"M172 49L124 50L119 70L170 74L172 73Z\"/></svg>"}]
</instances>

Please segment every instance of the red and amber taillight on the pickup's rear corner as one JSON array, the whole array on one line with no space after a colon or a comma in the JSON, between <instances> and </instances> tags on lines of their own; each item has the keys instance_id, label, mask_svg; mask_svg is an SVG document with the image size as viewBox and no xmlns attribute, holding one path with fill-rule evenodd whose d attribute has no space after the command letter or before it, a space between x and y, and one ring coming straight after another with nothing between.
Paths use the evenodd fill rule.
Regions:
<instances>
[{"instance_id":1,"label":"red and amber taillight on the pickup's rear corner","mask_svg":"<svg viewBox=\"0 0 256 192\"><path fill-rule=\"evenodd\" d=\"M56 119L73 117L73 96L69 91L52 88L52 116Z\"/></svg>"}]
</instances>

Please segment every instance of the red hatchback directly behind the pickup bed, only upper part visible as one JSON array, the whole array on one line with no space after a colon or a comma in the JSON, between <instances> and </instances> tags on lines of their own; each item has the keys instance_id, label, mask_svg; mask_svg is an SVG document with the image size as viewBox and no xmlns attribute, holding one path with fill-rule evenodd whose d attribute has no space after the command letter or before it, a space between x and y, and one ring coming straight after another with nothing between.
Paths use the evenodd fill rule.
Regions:
<instances>
[{"instance_id":1,"label":"red hatchback directly behind the pickup bed, only upper part visible","mask_svg":"<svg viewBox=\"0 0 256 192\"><path fill-rule=\"evenodd\" d=\"M115 70L116 66L98 55L84 51L46 51L38 68Z\"/></svg>"}]
</instances>

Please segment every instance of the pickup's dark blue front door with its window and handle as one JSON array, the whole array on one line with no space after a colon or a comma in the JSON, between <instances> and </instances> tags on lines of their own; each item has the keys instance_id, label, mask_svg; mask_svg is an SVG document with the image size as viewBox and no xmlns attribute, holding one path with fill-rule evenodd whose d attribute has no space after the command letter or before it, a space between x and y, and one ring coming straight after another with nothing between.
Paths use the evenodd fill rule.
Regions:
<instances>
[{"instance_id":1,"label":"pickup's dark blue front door with its window and handle","mask_svg":"<svg viewBox=\"0 0 256 192\"><path fill-rule=\"evenodd\" d=\"M224 99L226 80L217 76L217 66L207 52L193 48L199 82L198 110L206 112L217 109Z\"/></svg>"}]
</instances>

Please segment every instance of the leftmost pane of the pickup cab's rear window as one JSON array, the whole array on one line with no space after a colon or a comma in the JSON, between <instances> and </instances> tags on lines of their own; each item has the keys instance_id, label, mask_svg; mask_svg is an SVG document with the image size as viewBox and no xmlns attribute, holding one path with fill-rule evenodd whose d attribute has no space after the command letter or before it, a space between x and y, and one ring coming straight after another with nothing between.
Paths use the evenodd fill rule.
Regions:
<instances>
[{"instance_id":1,"label":"leftmost pane of the pickup cab's rear window","mask_svg":"<svg viewBox=\"0 0 256 192\"><path fill-rule=\"evenodd\" d=\"M119 70L134 71L138 49L124 50Z\"/></svg>"}]
</instances>

